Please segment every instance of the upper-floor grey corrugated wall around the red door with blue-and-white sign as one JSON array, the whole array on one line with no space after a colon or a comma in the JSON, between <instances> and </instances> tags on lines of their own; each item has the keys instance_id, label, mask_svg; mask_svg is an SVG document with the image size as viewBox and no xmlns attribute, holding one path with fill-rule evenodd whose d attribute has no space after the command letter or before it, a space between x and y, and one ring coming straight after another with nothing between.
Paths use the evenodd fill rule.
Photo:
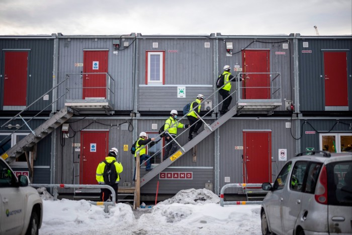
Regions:
<instances>
[{"instance_id":1,"label":"upper-floor grey corrugated wall around the red door with blue-and-white sign","mask_svg":"<svg viewBox=\"0 0 352 235\"><path fill-rule=\"evenodd\" d=\"M83 63L84 49L108 49L108 72L115 80L114 110L132 110L133 107L133 63L134 44L133 38L125 38L130 46L127 49L115 50L111 37L58 37L59 59L58 59L58 83L65 79L66 73L80 73L83 67L75 67L75 63ZM68 41L69 40L69 41ZM123 41L121 41L123 43ZM115 52L115 53L114 53ZM116 53L117 52L117 53ZM70 75L70 87L82 87L82 79L79 74ZM64 93L65 86L60 86L58 96ZM82 99L81 89L70 91L70 97ZM71 99L72 99L71 98ZM58 109L63 107L64 100L59 102Z\"/></svg>"}]
</instances>

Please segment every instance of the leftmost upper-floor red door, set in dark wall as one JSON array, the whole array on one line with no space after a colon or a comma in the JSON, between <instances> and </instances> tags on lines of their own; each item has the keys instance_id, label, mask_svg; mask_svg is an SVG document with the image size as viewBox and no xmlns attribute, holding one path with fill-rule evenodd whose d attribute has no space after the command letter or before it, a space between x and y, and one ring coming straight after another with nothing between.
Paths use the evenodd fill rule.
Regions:
<instances>
[{"instance_id":1,"label":"leftmost upper-floor red door, set in dark wall","mask_svg":"<svg viewBox=\"0 0 352 235\"><path fill-rule=\"evenodd\" d=\"M5 52L4 106L26 106L28 52Z\"/></svg>"}]
</instances>

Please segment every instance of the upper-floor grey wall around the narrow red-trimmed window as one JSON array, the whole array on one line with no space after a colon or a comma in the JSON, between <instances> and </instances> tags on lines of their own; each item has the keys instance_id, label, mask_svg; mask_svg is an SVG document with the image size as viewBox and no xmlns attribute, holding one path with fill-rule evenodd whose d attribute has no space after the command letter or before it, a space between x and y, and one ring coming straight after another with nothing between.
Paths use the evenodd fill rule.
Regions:
<instances>
[{"instance_id":1,"label":"upper-floor grey wall around the narrow red-trimmed window","mask_svg":"<svg viewBox=\"0 0 352 235\"><path fill-rule=\"evenodd\" d=\"M153 42L158 43L153 48ZM206 48L205 43L210 43ZM165 51L165 85L145 85L145 55L148 50ZM168 52L177 51L177 52ZM208 97L213 93L214 82L214 46L213 40L206 37L174 38L145 37L138 39L138 110L169 111L182 110L193 101L197 94ZM186 98L177 98L177 86L186 86ZM187 85L207 85L188 87ZM214 98L211 98L213 100Z\"/></svg>"}]
</instances>

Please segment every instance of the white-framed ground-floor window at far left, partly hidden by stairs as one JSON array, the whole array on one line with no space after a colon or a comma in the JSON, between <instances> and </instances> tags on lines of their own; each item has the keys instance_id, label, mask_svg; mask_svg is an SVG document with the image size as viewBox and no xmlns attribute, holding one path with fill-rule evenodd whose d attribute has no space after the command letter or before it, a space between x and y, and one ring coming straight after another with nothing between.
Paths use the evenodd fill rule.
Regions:
<instances>
[{"instance_id":1,"label":"white-framed ground-floor window at far left, partly hidden by stairs","mask_svg":"<svg viewBox=\"0 0 352 235\"><path fill-rule=\"evenodd\" d=\"M29 133L8 133L8 132L2 132L0 133L0 155L2 155L4 152L9 150L12 146L14 146L17 142L19 142L21 139L26 137ZM32 152L29 152L28 158L29 161L31 161L31 155ZM27 165L27 159L25 153L21 154L16 161L12 162L10 164L12 167L28 167Z\"/></svg>"}]
</instances>

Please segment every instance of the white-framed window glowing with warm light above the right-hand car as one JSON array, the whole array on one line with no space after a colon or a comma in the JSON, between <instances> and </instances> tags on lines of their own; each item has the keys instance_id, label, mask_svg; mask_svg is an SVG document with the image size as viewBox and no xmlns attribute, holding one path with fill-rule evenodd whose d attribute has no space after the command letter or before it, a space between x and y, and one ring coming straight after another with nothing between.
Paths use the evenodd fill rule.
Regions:
<instances>
[{"instance_id":1,"label":"white-framed window glowing with warm light above the right-hand car","mask_svg":"<svg viewBox=\"0 0 352 235\"><path fill-rule=\"evenodd\" d=\"M352 152L351 133L319 134L320 149L329 152Z\"/></svg>"}]
</instances>

